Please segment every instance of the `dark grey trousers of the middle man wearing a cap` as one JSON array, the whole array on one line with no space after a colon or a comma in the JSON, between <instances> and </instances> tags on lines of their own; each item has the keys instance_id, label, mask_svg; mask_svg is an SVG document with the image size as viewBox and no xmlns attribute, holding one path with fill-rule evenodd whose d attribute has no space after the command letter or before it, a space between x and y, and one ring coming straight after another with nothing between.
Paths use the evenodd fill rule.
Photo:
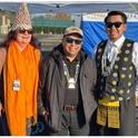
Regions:
<instances>
[{"instance_id":1,"label":"dark grey trousers of the middle man wearing a cap","mask_svg":"<svg viewBox=\"0 0 138 138\"><path fill-rule=\"evenodd\" d=\"M85 120L83 110L62 111L60 131L51 136L88 136L89 122Z\"/></svg>"}]
</instances>

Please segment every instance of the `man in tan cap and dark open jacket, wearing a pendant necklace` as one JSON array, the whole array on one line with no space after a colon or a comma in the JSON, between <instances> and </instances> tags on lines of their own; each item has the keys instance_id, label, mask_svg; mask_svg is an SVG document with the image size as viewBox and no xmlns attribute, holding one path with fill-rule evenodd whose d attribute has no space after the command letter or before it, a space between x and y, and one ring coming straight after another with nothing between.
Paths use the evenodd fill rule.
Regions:
<instances>
[{"instance_id":1,"label":"man in tan cap and dark open jacket, wearing a pendant necklace","mask_svg":"<svg viewBox=\"0 0 138 138\"><path fill-rule=\"evenodd\" d=\"M39 108L55 130L50 135L89 135L89 121L97 107L97 71L95 61L81 49L82 39L81 29L67 28L62 43L43 61Z\"/></svg>"}]
</instances>

